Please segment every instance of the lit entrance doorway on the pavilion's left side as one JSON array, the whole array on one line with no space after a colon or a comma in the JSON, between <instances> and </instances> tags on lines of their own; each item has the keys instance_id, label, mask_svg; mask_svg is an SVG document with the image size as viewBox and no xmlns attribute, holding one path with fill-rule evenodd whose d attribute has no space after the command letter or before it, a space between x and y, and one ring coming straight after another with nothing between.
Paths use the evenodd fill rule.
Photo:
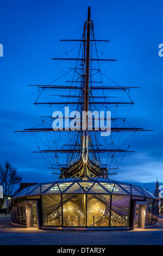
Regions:
<instances>
[{"instance_id":1,"label":"lit entrance doorway on the pavilion's left side","mask_svg":"<svg viewBox=\"0 0 163 256\"><path fill-rule=\"evenodd\" d=\"M36 200L24 201L26 210L26 228L40 229L38 202Z\"/></svg>"}]
</instances>

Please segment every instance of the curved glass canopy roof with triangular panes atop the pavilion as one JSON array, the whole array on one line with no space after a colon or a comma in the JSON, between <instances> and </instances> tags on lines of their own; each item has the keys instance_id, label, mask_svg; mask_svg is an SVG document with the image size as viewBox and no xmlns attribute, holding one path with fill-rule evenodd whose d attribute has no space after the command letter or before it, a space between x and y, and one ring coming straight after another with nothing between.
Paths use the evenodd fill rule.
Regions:
<instances>
[{"instance_id":1,"label":"curved glass canopy roof with triangular panes atop the pavilion","mask_svg":"<svg viewBox=\"0 0 163 256\"><path fill-rule=\"evenodd\" d=\"M98 193L98 194L128 194L132 196L153 197L153 194L140 186L118 182L110 179L85 179L70 178L60 179L55 182L48 182L29 186L16 194L15 197L22 197L36 194L56 193Z\"/></svg>"}]
</instances>

